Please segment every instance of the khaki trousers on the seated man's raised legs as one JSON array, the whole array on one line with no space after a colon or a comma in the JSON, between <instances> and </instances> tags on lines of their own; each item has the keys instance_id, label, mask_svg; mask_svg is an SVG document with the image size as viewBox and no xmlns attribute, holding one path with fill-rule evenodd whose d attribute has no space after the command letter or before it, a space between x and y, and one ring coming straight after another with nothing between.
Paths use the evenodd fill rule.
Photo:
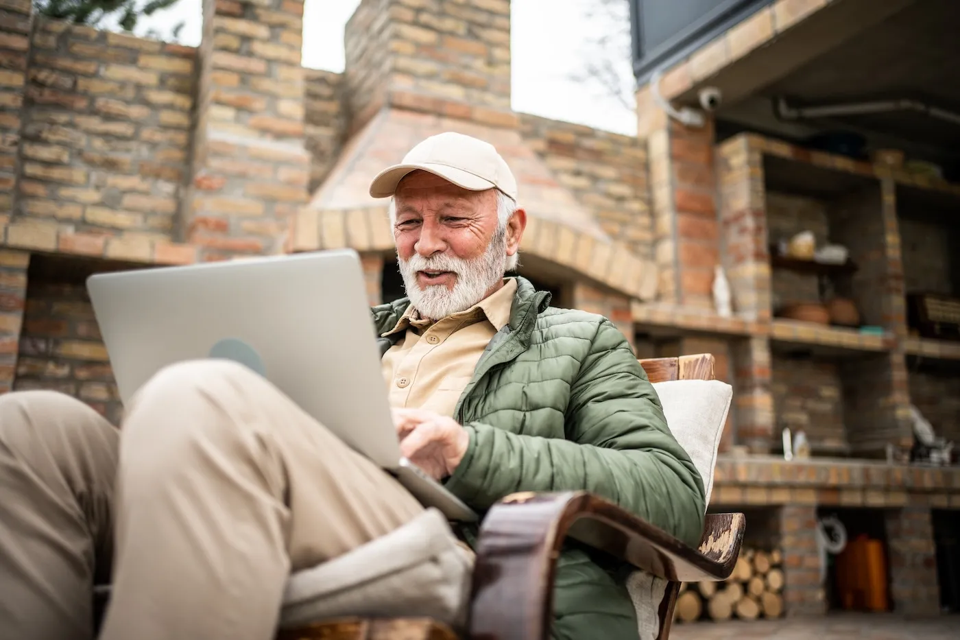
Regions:
<instances>
[{"instance_id":1,"label":"khaki trousers on the seated man's raised legs","mask_svg":"<svg viewBox=\"0 0 960 640\"><path fill-rule=\"evenodd\" d=\"M160 371L122 431L58 393L0 396L0 638L90 638L112 558L101 638L265 640L292 571L422 511L229 361Z\"/></svg>"}]
</instances>

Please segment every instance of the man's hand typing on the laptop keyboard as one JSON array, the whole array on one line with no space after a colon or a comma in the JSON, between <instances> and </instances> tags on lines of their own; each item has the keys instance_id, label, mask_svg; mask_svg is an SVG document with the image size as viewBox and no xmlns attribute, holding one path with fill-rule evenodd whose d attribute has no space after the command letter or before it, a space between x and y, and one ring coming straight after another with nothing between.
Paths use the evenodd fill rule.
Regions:
<instances>
[{"instance_id":1,"label":"man's hand typing on the laptop keyboard","mask_svg":"<svg viewBox=\"0 0 960 640\"><path fill-rule=\"evenodd\" d=\"M424 409L395 408L394 426L400 453L434 480L452 475L467 453L470 436L453 418Z\"/></svg>"}]
</instances>

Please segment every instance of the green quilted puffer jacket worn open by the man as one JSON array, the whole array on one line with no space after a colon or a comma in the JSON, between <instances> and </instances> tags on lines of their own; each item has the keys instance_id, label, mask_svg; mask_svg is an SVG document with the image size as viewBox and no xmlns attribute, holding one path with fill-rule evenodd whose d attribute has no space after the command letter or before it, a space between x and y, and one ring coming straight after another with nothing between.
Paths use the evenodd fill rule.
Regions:
<instances>
[{"instance_id":1,"label":"green quilted puffer jacket worn open by the man","mask_svg":"<svg viewBox=\"0 0 960 640\"><path fill-rule=\"evenodd\" d=\"M457 404L454 417L470 442L447 488L480 513L516 491L583 489L696 545L703 480L667 430L623 334L602 316L549 302L549 293L517 278L510 323L492 338ZM377 334L390 331L408 305L373 308ZM380 338L381 353L391 338ZM468 542L474 534L466 532ZM568 543L556 576L553 636L636 638L627 575L629 568Z\"/></svg>"}]
</instances>

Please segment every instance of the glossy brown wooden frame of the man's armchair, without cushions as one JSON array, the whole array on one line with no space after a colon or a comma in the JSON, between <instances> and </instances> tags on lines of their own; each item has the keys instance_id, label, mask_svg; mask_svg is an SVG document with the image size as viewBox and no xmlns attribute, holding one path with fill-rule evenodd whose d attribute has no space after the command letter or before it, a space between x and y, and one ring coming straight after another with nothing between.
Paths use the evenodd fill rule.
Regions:
<instances>
[{"instance_id":1,"label":"glossy brown wooden frame of the man's armchair, without cushions","mask_svg":"<svg viewBox=\"0 0 960 640\"><path fill-rule=\"evenodd\" d=\"M712 380L710 355L640 360L650 382ZM660 602L658 640L670 634L684 581L730 576L740 552L742 513L708 514L700 548L684 545L645 521L581 492L521 493L488 512L473 575L470 640L549 637L553 581L564 538L571 536L658 578L669 580ZM346 619L284 629L277 640L457 640L443 625L420 619Z\"/></svg>"}]
</instances>

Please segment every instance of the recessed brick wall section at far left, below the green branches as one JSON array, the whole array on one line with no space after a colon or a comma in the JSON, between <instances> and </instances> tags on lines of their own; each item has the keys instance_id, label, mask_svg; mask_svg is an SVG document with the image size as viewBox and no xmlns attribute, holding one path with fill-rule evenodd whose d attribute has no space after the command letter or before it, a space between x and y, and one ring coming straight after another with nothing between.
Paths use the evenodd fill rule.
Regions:
<instances>
[{"instance_id":1,"label":"recessed brick wall section at far left, below the green branches","mask_svg":"<svg viewBox=\"0 0 960 640\"><path fill-rule=\"evenodd\" d=\"M132 244L179 208L195 50L36 18L14 217Z\"/></svg>"}]
</instances>

